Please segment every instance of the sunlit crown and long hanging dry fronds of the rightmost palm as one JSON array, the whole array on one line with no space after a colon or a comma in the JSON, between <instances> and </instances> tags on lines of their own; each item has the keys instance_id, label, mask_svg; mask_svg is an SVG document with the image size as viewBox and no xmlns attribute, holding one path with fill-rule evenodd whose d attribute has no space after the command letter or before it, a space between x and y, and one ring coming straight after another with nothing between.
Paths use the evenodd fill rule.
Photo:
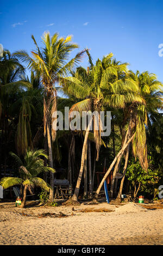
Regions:
<instances>
[{"instance_id":1,"label":"sunlit crown and long hanging dry fronds of the rightmost palm","mask_svg":"<svg viewBox=\"0 0 163 256\"><path fill-rule=\"evenodd\" d=\"M152 113L158 112L162 107L161 101L161 82L156 80L154 74L149 74L147 71L140 74L136 71L129 71L129 77L136 82L139 87L139 94L142 102L135 101L134 103L134 119L135 119L135 137L133 140L133 153L135 157L139 157L139 161L143 169L148 168L147 162L147 144L146 144L146 128L149 118Z\"/></svg>"}]
</instances>

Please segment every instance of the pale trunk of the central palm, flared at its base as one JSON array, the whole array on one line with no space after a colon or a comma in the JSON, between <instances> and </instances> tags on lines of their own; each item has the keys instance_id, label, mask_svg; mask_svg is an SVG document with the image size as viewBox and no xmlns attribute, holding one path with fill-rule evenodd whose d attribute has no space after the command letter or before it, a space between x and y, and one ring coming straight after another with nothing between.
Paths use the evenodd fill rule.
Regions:
<instances>
[{"instance_id":1,"label":"pale trunk of the central palm, flared at its base","mask_svg":"<svg viewBox=\"0 0 163 256\"><path fill-rule=\"evenodd\" d=\"M82 180L83 169L84 169L84 157L85 157L85 150L86 150L86 144L87 144L87 137L88 137L88 135L89 135L90 126L91 126L91 122L90 122L89 125L87 126L87 130L86 130L86 133L85 133L85 138L84 138L84 143L83 143L83 149L82 149L82 159L81 159L81 165L80 165L79 176L78 176L76 188L75 188L75 190L74 190L74 194L73 194L73 196L72 196L72 198L71 198L71 200L73 200L73 201L77 201L77 200L78 200L79 188L80 188L80 183L81 183L81 180ZM67 202L68 202L68 201L67 201Z\"/></svg>"}]
</instances>

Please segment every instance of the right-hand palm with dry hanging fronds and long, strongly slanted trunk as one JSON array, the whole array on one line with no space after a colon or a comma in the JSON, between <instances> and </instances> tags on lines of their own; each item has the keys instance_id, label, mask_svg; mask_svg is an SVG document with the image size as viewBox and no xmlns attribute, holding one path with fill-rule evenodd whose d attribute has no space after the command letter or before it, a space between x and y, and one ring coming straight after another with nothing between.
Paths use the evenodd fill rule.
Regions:
<instances>
[{"instance_id":1,"label":"right-hand palm with dry hanging fronds and long, strongly slanted trunk","mask_svg":"<svg viewBox=\"0 0 163 256\"><path fill-rule=\"evenodd\" d=\"M149 82L150 76L152 79L151 81L152 83ZM130 141L132 142L134 156L139 158L142 168L147 170L148 168L147 145L146 145L146 126L147 126L147 112L148 112L147 109L152 109L152 103L153 103L153 107L158 108L161 106L162 104L160 99L161 92L160 91L158 92L158 88L160 88L161 83L159 81L156 81L156 77L153 74L149 75L148 72L145 72L144 74L140 75L140 79L139 79L139 71L136 72L136 76L132 71L129 71L129 78L133 80L133 82L135 82L137 86L137 97L135 97L133 101L130 102L130 105L126 105L128 109L128 122L129 122L128 130L126 132L126 138L124 139L122 149L120 150L121 154L118 153L118 157L116 156L116 158L114 159L110 167L111 168L114 167L116 161L118 163L118 161L121 160L121 157L124 154L124 150L127 147L129 150L128 142ZM143 81L143 82L140 83L140 81ZM151 90L147 86L147 81L149 82L149 84L151 84ZM147 95L147 92L148 93L150 92L151 95L150 96ZM150 103L148 102L149 99L151 99ZM126 167L127 167L127 161L125 164ZM99 191L101 190L101 187L103 185L105 178L109 175L111 171L110 167L96 191L96 196L95 196L96 199L98 198ZM125 172L125 169L124 169L124 172ZM115 174L114 174L114 178L115 178ZM114 181L115 179L112 180L113 186L114 186ZM113 186L111 191L113 191Z\"/></svg>"}]
</instances>

